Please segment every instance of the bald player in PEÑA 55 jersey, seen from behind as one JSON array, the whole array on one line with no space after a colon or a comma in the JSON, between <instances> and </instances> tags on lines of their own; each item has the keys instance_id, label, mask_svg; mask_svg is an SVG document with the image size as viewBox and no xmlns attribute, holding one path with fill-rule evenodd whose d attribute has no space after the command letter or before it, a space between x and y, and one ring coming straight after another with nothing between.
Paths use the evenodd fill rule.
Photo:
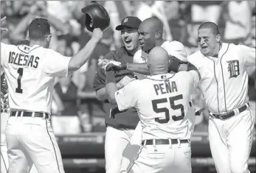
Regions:
<instances>
[{"instance_id":1,"label":"bald player in PE\u00d1A 55 jersey, seen from behind","mask_svg":"<svg viewBox=\"0 0 256 173\"><path fill-rule=\"evenodd\" d=\"M168 74L168 53L160 46L148 56L150 76L118 90L111 63L105 66L108 101L120 111L136 107L142 124L142 147L131 170L134 173L187 173L191 171L190 92L196 71Z\"/></svg>"}]
</instances>

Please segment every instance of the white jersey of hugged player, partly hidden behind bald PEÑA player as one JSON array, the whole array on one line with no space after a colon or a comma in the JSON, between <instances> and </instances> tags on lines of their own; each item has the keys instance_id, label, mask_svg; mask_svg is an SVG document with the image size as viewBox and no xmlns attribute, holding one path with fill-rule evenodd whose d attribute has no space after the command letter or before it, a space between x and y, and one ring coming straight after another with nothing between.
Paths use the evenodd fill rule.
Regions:
<instances>
[{"instance_id":1,"label":"white jersey of hugged player, partly hidden behind bald PE\u00d1A player","mask_svg":"<svg viewBox=\"0 0 256 173\"><path fill-rule=\"evenodd\" d=\"M178 57L179 60L183 60L187 62L187 53L184 48L184 45L180 43L179 41L165 41L162 43L162 48L164 48L169 55ZM142 49L139 49L134 54L134 63L147 63L148 60L148 54L142 51ZM145 79L145 75L135 73L139 80Z\"/></svg>"}]
</instances>

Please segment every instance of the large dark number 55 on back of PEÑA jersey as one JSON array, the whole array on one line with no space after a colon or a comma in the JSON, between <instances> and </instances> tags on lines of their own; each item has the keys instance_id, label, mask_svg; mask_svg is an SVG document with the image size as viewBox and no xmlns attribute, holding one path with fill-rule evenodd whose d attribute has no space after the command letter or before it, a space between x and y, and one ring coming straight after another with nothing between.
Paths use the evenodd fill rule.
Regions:
<instances>
[{"instance_id":1,"label":"large dark number 55 on back of PE\u00d1A jersey","mask_svg":"<svg viewBox=\"0 0 256 173\"><path fill-rule=\"evenodd\" d=\"M178 96L169 97L170 107L173 110L181 109L181 116L172 116L173 121L179 121L181 119L184 119L184 106L181 105L181 104L179 104L179 105L174 104L174 101L179 100L179 99L183 99L182 94L178 95ZM157 104L166 103L166 102L167 102L167 98L152 100L153 111L155 111L155 113L165 113L165 119L159 119L159 118L155 119L155 121L160 123L160 124L165 124L168 121L170 121L170 113L169 113L170 111L169 111L169 109L167 109L167 107L162 107L162 108L157 107Z\"/></svg>"}]
</instances>

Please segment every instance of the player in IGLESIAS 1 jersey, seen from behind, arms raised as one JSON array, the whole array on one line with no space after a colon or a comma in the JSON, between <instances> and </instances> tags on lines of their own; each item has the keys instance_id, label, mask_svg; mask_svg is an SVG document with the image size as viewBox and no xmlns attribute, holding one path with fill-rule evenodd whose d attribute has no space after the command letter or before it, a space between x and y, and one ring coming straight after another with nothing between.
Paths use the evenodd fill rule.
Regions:
<instances>
[{"instance_id":1,"label":"player in IGLESIAS 1 jersey, seen from behind, arms raised","mask_svg":"<svg viewBox=\"0 0 256 173\"><path fill-rule=\"evenodd\" d=\"M69 77L83 66L102 35L99 28L94 29L80 52L65 57L49 49L49 22L35 18L29 26L30 46L1 43L1 66L7 77L11 111L5 130L9 173L29 172L33 163L40 173L64 172L50 124L55 77Z\"/></svg>"}]
</instances>

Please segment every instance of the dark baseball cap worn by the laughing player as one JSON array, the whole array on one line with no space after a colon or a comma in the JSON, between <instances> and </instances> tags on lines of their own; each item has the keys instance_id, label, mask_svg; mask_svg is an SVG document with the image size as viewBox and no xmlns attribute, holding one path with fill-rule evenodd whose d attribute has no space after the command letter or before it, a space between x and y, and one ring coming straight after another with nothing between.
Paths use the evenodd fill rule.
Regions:
<instances>
[{"instance_id":1,"label":"dark baseball cap worn by the laughing player","mask_svg":"<svg viewBox=\"0 0 256 173\"><path fill-rule=\"evenodd\" d=\"M134 16L127 16L122 19L121 24L116 27L117 31L122 30L124 27L139 29L139 25L142 23L139 18Z\"/></svg>"}]
</instances>

